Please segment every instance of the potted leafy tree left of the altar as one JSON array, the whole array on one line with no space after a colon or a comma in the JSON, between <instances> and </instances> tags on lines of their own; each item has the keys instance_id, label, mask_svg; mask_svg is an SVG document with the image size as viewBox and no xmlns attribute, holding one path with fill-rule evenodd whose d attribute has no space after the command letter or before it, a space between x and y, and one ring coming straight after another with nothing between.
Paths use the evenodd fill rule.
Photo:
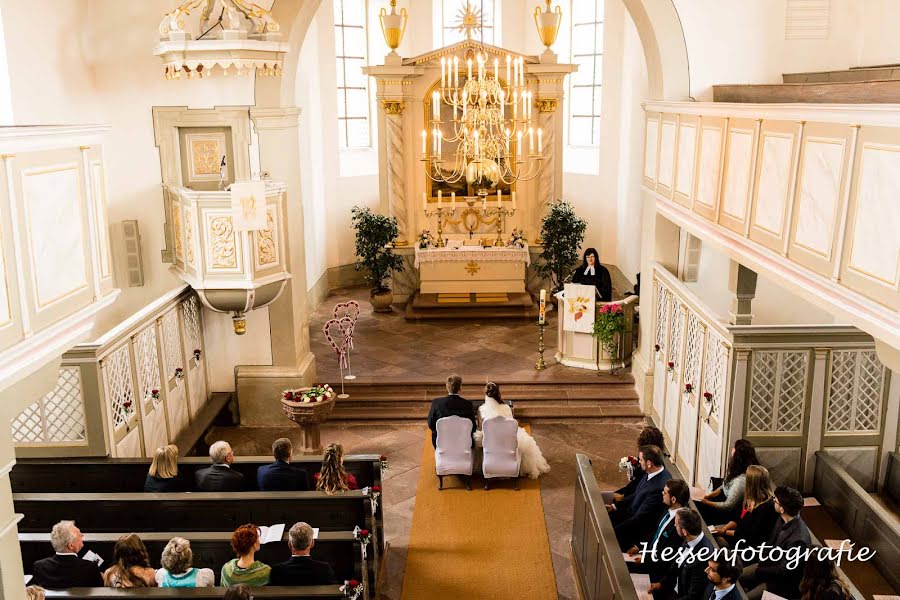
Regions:
<instances>
[{"instance_id":1,"label":"potted leafy tree left of the altar","mask_svg":"<svg viewBox=\"0 0 900 600\"><path fill-rule=\"evenodd\" d=\"M375 312L390 312L394 294L389 279L394 271L403 270L403 259L394 254L394 240L399 235L397 219L354 206L351 212L356 230L356 270L365 273L372 286L369 301Z\"/></svg>"}]
</instances>

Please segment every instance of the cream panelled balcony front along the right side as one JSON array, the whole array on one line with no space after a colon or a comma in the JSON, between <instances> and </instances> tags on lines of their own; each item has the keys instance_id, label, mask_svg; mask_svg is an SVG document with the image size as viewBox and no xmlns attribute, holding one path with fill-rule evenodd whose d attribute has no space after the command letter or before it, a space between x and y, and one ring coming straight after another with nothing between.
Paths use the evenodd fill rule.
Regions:
<instances>
[{"instance_id":1,"label":"cream panelled balcony front along the right side","mask_svg":"<svg viewBox=\"0 0 900 600\"><path fill-rule=\"evenodd\" d=\"M647 102L643 189L661 216L900 356L900 111Z\"/></svg>"}]
</instances>

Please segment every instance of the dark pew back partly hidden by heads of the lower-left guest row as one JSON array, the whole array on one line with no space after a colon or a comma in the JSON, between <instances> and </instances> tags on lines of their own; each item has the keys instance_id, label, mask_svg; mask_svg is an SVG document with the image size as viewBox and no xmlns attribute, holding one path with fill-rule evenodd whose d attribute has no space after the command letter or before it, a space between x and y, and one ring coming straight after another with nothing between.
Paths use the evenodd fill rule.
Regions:
<instances>
[{"instance_id":1,"label":"dark pew back partly hidden by heads of the lower-left guest row","mask_svg":"<svg viewBox=\"0 0 900 600\"><path fill-rule=\"evenodd\" d=\"M113 550L116 541L125 533L85 533L85 548L99 554L104 559L102 568L112 564ZM175 536L183 537L191 542L193 552L193 566L212 569L216 576L216 585L219 585L219 574L222 565L234 558L231 549L230 531L179 531L179 532L147 532L141 533L141 539L147 546L150 555L150 564L159 568L160 557L163 548ZM49 533L20 533L19 545L22 549L22 564L25 572L30 573L35 561L53 554L50 545ZM272 542L260 546L256 553L256 559L269 566L284 562L290 558L290 549L287 544L287 531L281 542ZM353 538L352 531L320 531L312 551L313 558L323 560L331 565L334 574L339 581L346 579L362 580L362 563L359 542ZM372 564L366 561L369 569L369 581L374 571Z\"/></svg>"}]
</instances>

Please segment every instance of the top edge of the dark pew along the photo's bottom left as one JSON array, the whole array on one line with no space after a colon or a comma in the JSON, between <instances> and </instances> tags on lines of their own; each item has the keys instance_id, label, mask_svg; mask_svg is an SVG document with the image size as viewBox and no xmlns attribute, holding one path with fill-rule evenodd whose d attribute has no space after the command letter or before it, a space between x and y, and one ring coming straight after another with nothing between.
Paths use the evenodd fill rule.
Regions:
<instances>
[{"instance_id":1,"label":"top edge of the dark pew along the photo's bottom left","mask_svg":"<svg viewBox=\"0 0 900 600\"><path fill-rule=\"evenodd\" d=\"M223 587L212 588L71 588L69 590L47 590L47 598L90 598L91 600L128 600L144 598L164 598L165 600L193 600L194 598L221 598ZM253 588L254 598L345 598L337 585L306 585L297 587L265 586Z\"/></svg>"}]
</instances>

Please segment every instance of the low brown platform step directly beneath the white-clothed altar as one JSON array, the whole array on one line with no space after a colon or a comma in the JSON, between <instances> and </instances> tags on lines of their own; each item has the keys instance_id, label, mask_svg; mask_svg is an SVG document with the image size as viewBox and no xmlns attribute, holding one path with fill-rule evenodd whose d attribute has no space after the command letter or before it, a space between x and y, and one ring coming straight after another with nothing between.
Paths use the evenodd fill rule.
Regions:
<instances>
[{"instance_id":1,"label":"low brown platform step directly beneath the white-clothed altar","mask_svg":"<svg viewBox=\"0 0 900 600\"><path fill-rule=\"evenodd\" d=\"M531 294L423 294L406 303L406 320L537 319Z\"/></svg>"}]
</instances>

